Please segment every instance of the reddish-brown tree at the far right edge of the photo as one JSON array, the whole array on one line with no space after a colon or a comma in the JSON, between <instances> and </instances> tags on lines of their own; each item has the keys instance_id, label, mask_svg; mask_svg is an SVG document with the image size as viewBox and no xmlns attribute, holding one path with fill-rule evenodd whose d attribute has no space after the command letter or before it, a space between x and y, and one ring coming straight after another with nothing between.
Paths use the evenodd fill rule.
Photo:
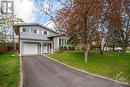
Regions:
<instances>
[{"instance_id":1,"label":"reddish-brown tree at the far right edge of the photo","mask_svg":"<svg viewBox=\"0 0 130 87\"><path fill-rule=\"evenodd\" d=\"M129 0L107 0L109 10L106 12L108 17L109 34L113 37L115 44L120 43L122 53L126 52L130 42L130 2Z\"/></svg>"}]
</instances>

